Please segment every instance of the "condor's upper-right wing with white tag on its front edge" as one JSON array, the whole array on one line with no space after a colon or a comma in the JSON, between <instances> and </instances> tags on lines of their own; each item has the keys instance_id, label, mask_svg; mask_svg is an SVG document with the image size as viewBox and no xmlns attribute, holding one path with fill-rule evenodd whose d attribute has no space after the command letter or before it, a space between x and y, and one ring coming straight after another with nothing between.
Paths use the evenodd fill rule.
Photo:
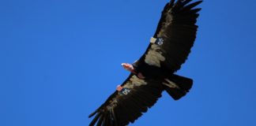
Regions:
<instances>
[{"instance_id":1,"label":"condor's upper-right wing with white tag on its front edge","mask_svg":"<svg viewBox=\"0 0 256 126\"><path fill-rule=\"evenodd\" d=\"M156 67L164 65L170 72L180 69L190 54L198 29L196 22L201 9L194 7L202 1L191 1L171 0L164 7L156 33L139 61Z\"/></svg>"}]
</instances>

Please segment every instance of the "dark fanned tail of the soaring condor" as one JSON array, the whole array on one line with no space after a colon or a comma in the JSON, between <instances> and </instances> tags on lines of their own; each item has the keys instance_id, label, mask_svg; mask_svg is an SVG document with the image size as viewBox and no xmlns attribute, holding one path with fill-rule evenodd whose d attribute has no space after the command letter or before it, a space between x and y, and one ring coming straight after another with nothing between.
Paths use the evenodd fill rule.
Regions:
<instances>
[{"instance_id":1,"label":"dark fanned tail of the soaring condor","mask_svg":"<svg viewBox=\"0 0 256 126\"><path fill-rule=\"evenodd\" d=\"M178 100L189 92L193 85L193 80L173 74L164 80L163 85L164 90L167 91L172 98Z\"/></svg>"}]
</instances>

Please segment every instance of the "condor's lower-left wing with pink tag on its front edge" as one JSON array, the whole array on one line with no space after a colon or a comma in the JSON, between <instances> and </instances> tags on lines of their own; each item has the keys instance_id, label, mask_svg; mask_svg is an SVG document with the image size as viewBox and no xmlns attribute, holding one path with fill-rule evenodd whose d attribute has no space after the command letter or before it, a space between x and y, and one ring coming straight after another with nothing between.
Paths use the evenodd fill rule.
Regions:
<instances>
[{"instance_id":1,"label":"condor's lower-left wing with pink tag on its front edge","mask_svg":"<svg viewBox=\"0 0 256 126\"><path fill-rule=\"evenodd\" d=\"M115 91L99 109L89 115L92 117L96 114L90 126L122 126L133 123L156 103L163 91L159 82L141 80L133 74L121 86L121 91Z\"/></svg>"}]
</instances>

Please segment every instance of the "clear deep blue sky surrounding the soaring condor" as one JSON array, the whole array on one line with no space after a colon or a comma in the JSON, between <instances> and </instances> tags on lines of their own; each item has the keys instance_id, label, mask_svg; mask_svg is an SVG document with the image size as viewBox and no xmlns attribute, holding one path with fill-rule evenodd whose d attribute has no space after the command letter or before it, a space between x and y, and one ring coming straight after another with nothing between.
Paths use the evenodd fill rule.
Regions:
<instances>
[{"instance_id":1,"label":"clear deep blue sky surrounding the soaring condor","mask_svg":"<svg viewBox=\"0 0 256 126\"><path fill-rule=\"evenodd\" d=\"M0 125L85 126L144 53L168 0L0 1ZM167 93L134 126L255 126L256 2L205 0L198 38Z\"/></svg>"}]
</instances>

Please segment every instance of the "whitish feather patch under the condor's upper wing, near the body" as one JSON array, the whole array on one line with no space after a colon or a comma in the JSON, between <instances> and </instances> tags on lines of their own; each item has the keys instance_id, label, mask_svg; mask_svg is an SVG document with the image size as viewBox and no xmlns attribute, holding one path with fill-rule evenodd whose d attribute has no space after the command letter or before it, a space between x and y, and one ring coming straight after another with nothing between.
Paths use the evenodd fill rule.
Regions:
<instances>
[{"instance_id":1,"label":"whitish feather patch under the condor's upper wing, near the body","mask_svg":"<svg viewBox=\"0 0 256 126\"><path fill-rule=\"evenodd\" d=\"M162 55L162 52L159 51L160 46L152 44L148 53L145 55L145 63L148 65L154 65L157 67L160 66L161 61L165 61L165 57Z\"/></svg>"}]
</instances>

